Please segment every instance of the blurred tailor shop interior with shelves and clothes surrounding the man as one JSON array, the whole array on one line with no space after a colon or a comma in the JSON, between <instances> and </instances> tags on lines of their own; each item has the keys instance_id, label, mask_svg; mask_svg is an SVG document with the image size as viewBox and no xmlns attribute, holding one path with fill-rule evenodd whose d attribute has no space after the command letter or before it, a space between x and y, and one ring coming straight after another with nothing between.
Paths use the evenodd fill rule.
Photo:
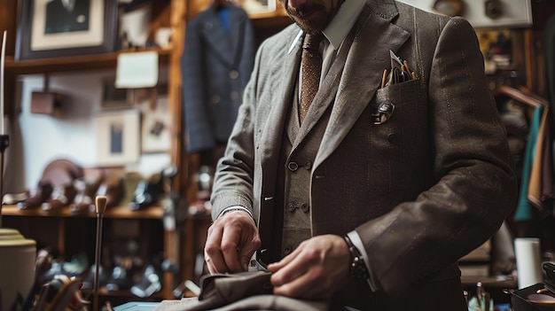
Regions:
<instances>
[{"instance_id":1,"label":"blurred tailor shop interior with shelves and clothes surrounding the man","mask_svg":"<svg viewBox=\"0 0 555 311\"><path fill-rule=\"evenodd\" d=\"M206 274L202 246L215 163L254 51L291 20L280 4L262 0L121 0L105 7L78 0L72 10L79 13L65 22L56 10L67 12L68 2L58 1L44 11L33 7L37 1L18 1L17 14L16 1L0 0L1 11L13 12L0 20L0 307L110 309L194 296ZM483 292L501 310L512 297L504 289L542 283L540 264L555 261L555 3L404 1L464 16L481 44L520 175L520 201L460 267L470 300ZM249 19L231 24L239 23L226 15L231 6ZM207 10L220 13L209 35L187 27ZM103 32L99 45L88 40Z\"/></svg>"}]
</instances>

